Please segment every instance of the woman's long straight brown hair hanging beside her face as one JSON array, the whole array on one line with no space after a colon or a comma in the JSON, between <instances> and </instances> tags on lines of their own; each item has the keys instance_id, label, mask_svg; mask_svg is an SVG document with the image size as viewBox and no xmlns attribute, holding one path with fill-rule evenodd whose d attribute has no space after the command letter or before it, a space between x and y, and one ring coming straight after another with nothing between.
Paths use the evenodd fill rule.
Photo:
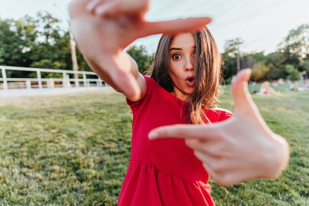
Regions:
<instances>
[{"instance_id":1,"label":"woman's long straight brown hair hanging beside her face","mask_svg":"<svg viewBox=\"0 0 309 206\"><path fill-rule=\"evenodd\" d=\"M204 27L193 34L196 41L194 91L186 107L186 120L189 124L210 123L203 108L213 109L219 103L221 92L222 57L212 34ZM162 35L156 49L154 63L149 73L168 92L174 90L169 76L169 46L172 36Z\"/></svg>"}]
</instances>

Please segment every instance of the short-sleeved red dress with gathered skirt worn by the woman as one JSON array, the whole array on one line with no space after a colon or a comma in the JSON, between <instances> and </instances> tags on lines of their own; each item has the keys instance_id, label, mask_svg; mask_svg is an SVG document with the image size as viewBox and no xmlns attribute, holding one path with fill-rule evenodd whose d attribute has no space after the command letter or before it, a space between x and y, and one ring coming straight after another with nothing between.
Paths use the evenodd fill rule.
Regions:
<instances>
[{"instance_id":1,"label":"short-sleeved red dress with gathered skirt worn by the woman","mask_svg":"<svg viewBox=\"0 0 309 206\"><path fill-rule=\"evenodd\" d=\"M149 140L150 130L187 124L182 101L146 77L147 90L133 112L132 150L118 206L214 206L208 172L183 139ZM222 110L205 110L211 122L230 118Z\"/></svg>"}]
</instances>

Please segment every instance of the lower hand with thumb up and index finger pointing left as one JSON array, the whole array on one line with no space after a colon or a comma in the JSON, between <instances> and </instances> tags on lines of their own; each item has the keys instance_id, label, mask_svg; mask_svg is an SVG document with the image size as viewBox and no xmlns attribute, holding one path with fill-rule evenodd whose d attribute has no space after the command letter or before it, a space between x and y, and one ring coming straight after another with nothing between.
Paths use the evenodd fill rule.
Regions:
<instances>
[{"instance_id":1,"label":"lower hand with thumb up and index finger pointing left","mask_svg":"<svg viewBox=\"0 0 309 206\"><path fill-rule=\"evenodd\" d=\"M232 85L234 116L212 125L162 126L150 139L184 138L213 179L223 186L255 178L275 178L289 160L289 145L273 133L248 92L251 70L241 70Z\"/></svg>"}]
</instances>

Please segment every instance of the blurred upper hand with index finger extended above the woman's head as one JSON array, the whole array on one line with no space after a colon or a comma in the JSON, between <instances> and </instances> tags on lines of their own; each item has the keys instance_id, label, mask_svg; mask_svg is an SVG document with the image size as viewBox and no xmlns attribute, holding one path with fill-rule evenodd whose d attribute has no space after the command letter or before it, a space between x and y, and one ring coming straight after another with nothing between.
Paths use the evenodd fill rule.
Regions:
<instances>
[{"instance_id":1,"label":"blurred upper hand with index finger extended above the woman's head","mask_svg":"<svg viewBox=\"0 0 309 206\"><path fill-rule=\"evenodd\" d=\"M72 33L91 68L132 99L140 96L138 70L132 71L124 48L138 38L193 32L211 22L207 17L148 22L148 6L149 0L74 0L69 6Z\"/></svg>"}]
</instances>

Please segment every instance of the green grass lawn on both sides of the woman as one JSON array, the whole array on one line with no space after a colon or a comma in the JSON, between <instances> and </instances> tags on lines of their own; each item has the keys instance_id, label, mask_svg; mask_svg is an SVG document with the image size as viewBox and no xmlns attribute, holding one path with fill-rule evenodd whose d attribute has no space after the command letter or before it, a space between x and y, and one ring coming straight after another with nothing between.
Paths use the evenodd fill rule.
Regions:
<instances>
[{"instance_id":1,"label":"green grass lawn on both sides of the woman","mask_svg":"<svg viewBox=\"0 0 309 206\"><path fill-rule=\"evenodd\" d=\"M275 180L229 188L210 181L217 206L309 205L309 92L281 91L253 97L291 146L288 168ZM229 91L221 101L233 110ZM132 114L121 94L24 97L0 105L0 206L116 206L131 150Z\"/></svg>"}]
</instances>

